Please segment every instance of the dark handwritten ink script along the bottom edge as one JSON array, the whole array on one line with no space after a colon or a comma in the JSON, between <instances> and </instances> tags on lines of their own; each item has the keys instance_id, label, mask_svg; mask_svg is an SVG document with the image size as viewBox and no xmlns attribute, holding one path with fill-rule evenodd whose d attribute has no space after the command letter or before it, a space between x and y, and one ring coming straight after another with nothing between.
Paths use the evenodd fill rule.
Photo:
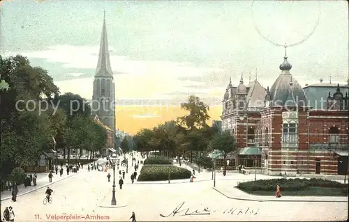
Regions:
<instances>
[{"instance_id":1,"label":"dark handwritten ink script along the bottom edge","mask_svg":"<svg viewBox=\"0 0 349 222\"><path fill-rule=\"evenodd\" d=\"M190 209L189 207L183 207L184 206L185 201L183 201L182 203L180 203L179 205L177 205L177 207L175 207L172 212L170 212L170 214L168 215L163 215L160 214L160 216L162 217L169 217L169 216L195 216L195 215L210 215L210 214L214 214L216 212L221 213L221 214L234 214L236 216L240 215L240 214L250 214L250 215L257 215L259 209L257 210L253 210L251 209L251 207L247 207L247 208L240 208L240 207L230 207L228 209L224 209L224 210L220 210L220 209L209 209L209 207L205 207L203 209Z\"/></svg>"}]
</instances>

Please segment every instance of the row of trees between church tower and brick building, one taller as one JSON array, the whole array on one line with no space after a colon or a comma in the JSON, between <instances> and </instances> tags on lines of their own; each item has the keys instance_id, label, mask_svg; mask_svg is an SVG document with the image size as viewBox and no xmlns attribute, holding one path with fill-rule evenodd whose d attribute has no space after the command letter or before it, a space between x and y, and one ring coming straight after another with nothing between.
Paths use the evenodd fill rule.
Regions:
<instances>
[{"instance_id":1,"label":"row of trees between church tower and brick building, one taller","mask_svg":"<svg viewBox=\"0 0 349 222\"><path fill-rule=\"evenodd\" d=\"M135 136L134 149L142 152L156 151L170 156L180 157L189 153L193 161L193 152L206 154L211 150L221 150L224 159L229 152L236 150L235 138L230 132L219 133L216 126L207 125L209 106L199 97L191 95L181 109L188 111L186 116L165 122L154 129L141 129ZM226 162L226 161L225 161Z\"/></svg>"}]
</instances>

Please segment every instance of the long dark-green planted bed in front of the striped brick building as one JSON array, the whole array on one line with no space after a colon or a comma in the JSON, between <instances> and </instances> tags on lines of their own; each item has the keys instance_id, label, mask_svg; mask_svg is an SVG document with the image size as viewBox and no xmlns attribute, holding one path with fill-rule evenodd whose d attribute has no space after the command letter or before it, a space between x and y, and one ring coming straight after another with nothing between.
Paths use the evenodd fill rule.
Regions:
<instances>
[{"instance_id":1,"label":"long dark-green planted bed in front of the striped brick building","mask_svg":"<svg viewBox=\"0 0 349 222\"><path fill-rule=\"evenodd\" d=\"M237 188L247 193L271 195L280 184L281 191L286 195L297 196L347 196L348 184L332 180L308 179L272 179L239 183Z\"/></svg>"}]
</instances>

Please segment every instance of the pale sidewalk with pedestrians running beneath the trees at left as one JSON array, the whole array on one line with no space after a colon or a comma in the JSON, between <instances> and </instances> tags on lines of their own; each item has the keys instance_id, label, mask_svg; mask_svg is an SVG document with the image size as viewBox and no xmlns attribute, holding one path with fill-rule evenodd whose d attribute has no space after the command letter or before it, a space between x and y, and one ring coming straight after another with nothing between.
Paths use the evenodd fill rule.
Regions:
<instances>
[{"instance_id":1,"label":"pale sidewalk with pedestrians running beneath the trees at left","mask_svg":"<svg viewBox=\"0 0 349 222\"><path fill-rule=\"evenodd\" d=\"M103 164L107 162L105 159L98 159L92 163L99 163L99 164ZM80 168L79 171L77 171L77 173L79 173L80 171L87 171L87 165L88 164L84 164L83 166L83 169ZM60 166L59 166L60 168ZM28 173L29 174L29 173ZM34 173L32 173L34 175ZM59 176L59 172L58 174L56 175L56 173L53 173L53 177L52 177L52 182L50 183L49 182L49 178L48 178L48 175L49 173L36 173L36 175L38 175L38 178L36 179L36 187L34 186L31 186L31 187L24 187L24 184L20 184L20 186L18 186L18 193L17 193L17 197L19 196L23 196L27 193L31 193L33 191L36 191L38 189L41 189L43 187L49 187L50 184L54 184L56 182L59 182L61 180L65 180L66 178L68 177L72 177L73 175L75 175L75 173L71 173L69 172L69 175L66 174L66 171L65 171L65 167L64 167L64 173L63 175L60 177ZM33 182L31 182L31 184L33 184ZM12 198L12 191L3 191L1 192L1 201L3 200L8 200Z\"/></svg>"}]
</instances>

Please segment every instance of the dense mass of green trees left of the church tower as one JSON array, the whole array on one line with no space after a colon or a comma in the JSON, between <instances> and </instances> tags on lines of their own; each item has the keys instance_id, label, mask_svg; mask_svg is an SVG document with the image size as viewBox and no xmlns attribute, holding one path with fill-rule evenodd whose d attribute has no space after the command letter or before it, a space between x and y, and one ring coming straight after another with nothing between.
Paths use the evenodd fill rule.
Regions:
<instances>
[{"instance_id":1,"label":"dense mass of green trees left of the church tower","mask_svg":"<svg viewBox=\"0 0 349 222\"><path fill-rule=\"evenodd\" d=\"M88 102L77 94L61 95L46 70L20 55L0 56L0 73L8 84L0 89L2 175L32 166L42 151L67 148L69 158L72 148L92 153L105 146L105 129L91 117Z\"/></svg>"}]
</instances>

